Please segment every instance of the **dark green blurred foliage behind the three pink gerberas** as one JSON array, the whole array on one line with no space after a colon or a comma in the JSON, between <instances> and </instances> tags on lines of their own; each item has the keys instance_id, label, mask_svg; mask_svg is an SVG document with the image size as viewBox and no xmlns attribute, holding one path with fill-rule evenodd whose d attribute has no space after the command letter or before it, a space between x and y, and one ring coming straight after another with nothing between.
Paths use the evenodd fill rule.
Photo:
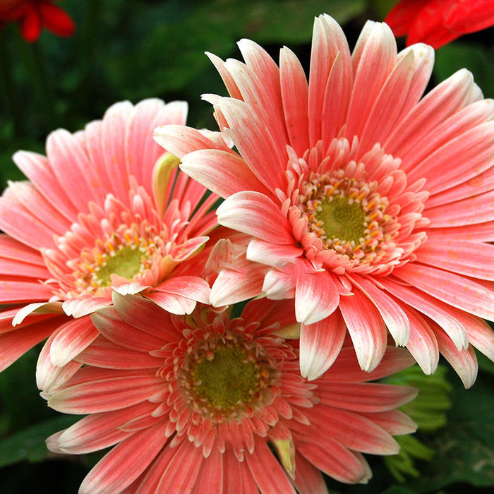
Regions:
<instances>
[{"instance_id":1,"label":"dark green blurred foliage behind the three pink gerberas","mask_svg":"<svg viewBox=\"0 0 494 494\"><path fill-rule=\"evenodd\" d=\"M110 104L145 97L187 100L189 123L215 128L205 92L225 94L204 52L239 58L236 41L248 37L277 59L287 44L308 67L313 18L329 13L354 44L367 18L382 20L393 0L67 0L78 30L71 39L43 32L26 44L16 25L0 30L0 182L21 179L11 161L18 149L43 152L58 127L76 131L101 118ZM473 73L494 97L493 29L436 52L433 83L459 68ZM399 40L399 47L403 47ZM0 491L76 493L101 453L74 457L47 452L44 439L77 417L48 409L35 385L35 349L0 374ZM367 486L328 479L331 493L481 493L494 486L494 365L481 359L478 380L464 390L452 371L447 426L417 437L435 454L416 462L418 478L402 485L379 457L368 457Z\"/></svg>"}]
</instances>

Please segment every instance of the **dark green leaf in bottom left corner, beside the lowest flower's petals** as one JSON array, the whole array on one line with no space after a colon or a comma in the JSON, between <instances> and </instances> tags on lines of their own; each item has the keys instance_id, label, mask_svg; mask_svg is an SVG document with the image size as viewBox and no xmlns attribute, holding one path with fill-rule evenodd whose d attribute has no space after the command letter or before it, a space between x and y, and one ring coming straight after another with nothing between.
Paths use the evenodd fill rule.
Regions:
<instances>
[{"instance_id":1,"label":"dark green leaf in bottom left corner, beside the lowest flower's petals","mask_svg":"<svg viewBox=\"0 0 494 494\"><path fill-rule=\"evenodd\" d=\"M45 440L59 430L76 423L79 416L59 416L20 430L0 441L0 467L27 460L41 462L49 456Z\"/></svg>"}]
</instances>

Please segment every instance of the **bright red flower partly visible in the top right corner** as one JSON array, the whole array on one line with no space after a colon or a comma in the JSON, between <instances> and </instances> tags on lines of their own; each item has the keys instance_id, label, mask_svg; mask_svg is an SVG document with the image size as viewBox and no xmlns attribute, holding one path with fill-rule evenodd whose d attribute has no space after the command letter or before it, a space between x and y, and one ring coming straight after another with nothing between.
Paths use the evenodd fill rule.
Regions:
<instances>
[{"instance_id":1,"label":"bright red flower partly visible in the top right corner","mask_svg":"<svg viewBox=\"0 0 494 494\"><path fill-rule=\"evenodd\" d=\"M494 25L494 0L401 0L385 18L406 45L423 42L433 48L469 32Z\"/></svg>"}]
</instances>

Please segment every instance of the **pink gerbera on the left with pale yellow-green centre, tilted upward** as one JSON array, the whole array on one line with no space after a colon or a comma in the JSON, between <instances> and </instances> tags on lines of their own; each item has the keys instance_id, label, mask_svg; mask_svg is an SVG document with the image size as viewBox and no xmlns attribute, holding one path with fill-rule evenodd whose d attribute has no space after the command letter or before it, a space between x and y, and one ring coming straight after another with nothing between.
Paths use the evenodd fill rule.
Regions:
<instances>
[{"instance_id":1,"label":"pink gerbera on the left with pale yellow-green centre, tilted upward","mask_svg":"<svg viewBox=\"0 0 494 494\"><path fill-rule=\"evenodd\" d=\"M0 303L24 307L2 313L1 368L55 330L56 366L97 337L89 318L62 316L60 327L58 316L40 330L40 316L23 321L33 311L79 318L112 303L113 289L178 314L209 302L200 267L184 261L216 224L215 195L201 203L205 188L152 140L158 124L185 123L186 113L185 102L121 102L84 131L49 135L47 157L14 155L30 181L0 198Z\"/></svg>"}]
</instances>

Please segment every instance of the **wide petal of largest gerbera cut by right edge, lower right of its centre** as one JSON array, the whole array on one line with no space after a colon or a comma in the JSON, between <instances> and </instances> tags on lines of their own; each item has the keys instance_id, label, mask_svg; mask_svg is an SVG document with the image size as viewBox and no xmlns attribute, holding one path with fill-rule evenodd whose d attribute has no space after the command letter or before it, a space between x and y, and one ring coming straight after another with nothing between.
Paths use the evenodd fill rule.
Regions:
<instances>
[{"instance_id":1,"label":"wide petal of largest gerbera cut by right edge, lower right of its centre","mask_svg":"<svg viewBox=\"0 0 494 494\"><path fill-rule=\"evenodd\" d=\"M419 263L406 264L393 273L440 301L479 318L494 320L494 292L469 278ZM479 300L483 302L479 304ZM466 335L464 340L463 346L466 346Z\"/></svg>"}]
</instances>

